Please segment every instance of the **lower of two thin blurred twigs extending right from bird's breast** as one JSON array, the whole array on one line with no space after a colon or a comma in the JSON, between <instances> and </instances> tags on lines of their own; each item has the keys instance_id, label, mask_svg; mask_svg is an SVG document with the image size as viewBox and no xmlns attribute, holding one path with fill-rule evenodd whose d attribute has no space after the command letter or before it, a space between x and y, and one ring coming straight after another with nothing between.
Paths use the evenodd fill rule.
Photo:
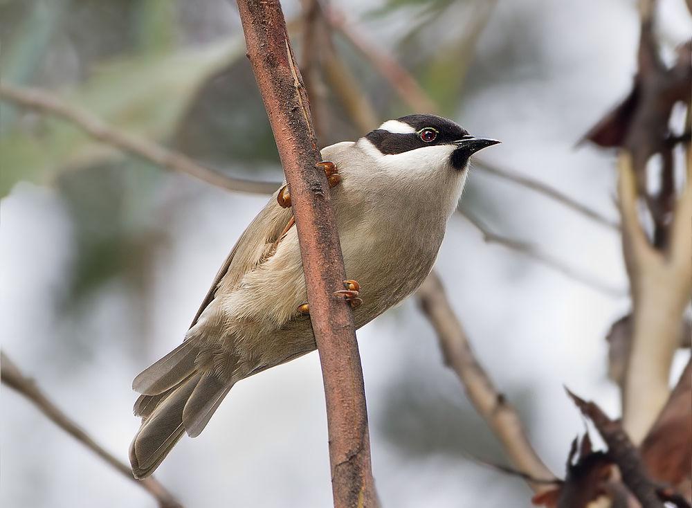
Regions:
<instances>
[{"instance_id":1,"label":"lower of two thin blurred twigs extending right from bird's breast","mask_svg":"<svg viewBox=\"0 0 692 508\"><path fill-rule=\"evenodd\" d=\"M480 231L485 242L502 245L510 248L513 251L522 253L523 255L543 263L546 266L549 266L550 268L562 273L563 275L586 284L588 287L596 289L597 291L607 294L608 296L621 297L627 294L623 289L618 289L608 284L604 284L601 282L601 280L599 280L599 278L589 275L588 273L583 273L582 271L565 264L565 262L559 260L557 257L539 251L536 246L528 242L522 242L521 240L504 237L502 235L493 233L488 226L483 224L480 219L475 217L475 215L468 210L464 210L462 208L458 208L458 210L462 215L464 215L464 217L466 217L466 219L468 219L471 224L473 224L477 230Z\"/></svg>"}]
</instances>

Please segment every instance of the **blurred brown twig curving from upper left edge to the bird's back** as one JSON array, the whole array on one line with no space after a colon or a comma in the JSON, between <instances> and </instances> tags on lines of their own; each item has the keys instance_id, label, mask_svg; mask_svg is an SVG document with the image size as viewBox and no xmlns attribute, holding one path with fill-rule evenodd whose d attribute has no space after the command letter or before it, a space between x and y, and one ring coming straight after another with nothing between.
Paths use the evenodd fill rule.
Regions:
<instances>
[{"instance_id":1,"label":"blurred brown twig curving from upper left edge to the bird's back","mask_svg":"<svg viewBox=\"0 0 692 508\"><path fill-rule=\"evenodd\" d=\"M67 104L60 98L39 89L14 87L0 83L0 98L44 114L67 120L86 134L123 152L143 158L167 170L189 174L196 179L217 187L239 192L271 194L280 185L274 182L258 182L221 174L193 161L188 156L153 143L144 138L131 136L125 131L107 125L89 111Z\"/></svg>"}]
</instances>

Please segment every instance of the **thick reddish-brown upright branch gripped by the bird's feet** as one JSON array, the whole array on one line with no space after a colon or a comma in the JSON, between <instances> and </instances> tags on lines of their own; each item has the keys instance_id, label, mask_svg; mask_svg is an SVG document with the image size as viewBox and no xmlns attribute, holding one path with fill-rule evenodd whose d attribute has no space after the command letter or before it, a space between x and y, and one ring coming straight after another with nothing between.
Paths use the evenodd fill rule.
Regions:
<instances>
[{"instance_id":1,"label":"thick reddish-brown upright branch gripped by the bird's feet","mask_svg":"<svg viewBox=\"0 0 692 508\"><path fill-rule=\"evenodd\" d=\"M309 102L277 0L238 0L248 57L271 123L291 201L327 399L336 507L374 506L365 390L351 309L336 298L343 258Z\"/></svg>"}]
</instances>

